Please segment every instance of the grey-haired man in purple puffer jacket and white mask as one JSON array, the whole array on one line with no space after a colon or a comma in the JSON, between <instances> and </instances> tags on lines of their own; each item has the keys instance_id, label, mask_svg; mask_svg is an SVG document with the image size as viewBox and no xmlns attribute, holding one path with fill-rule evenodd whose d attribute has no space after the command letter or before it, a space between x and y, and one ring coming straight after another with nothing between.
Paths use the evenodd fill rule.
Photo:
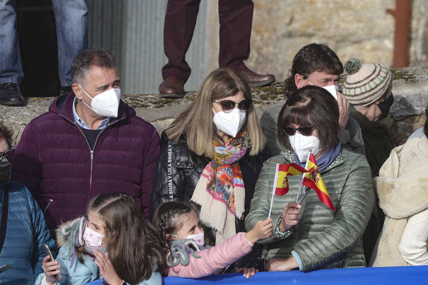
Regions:
<instances>
[{"instance_id":1,"label":"grey-haired man in purple puffer jacket and white mask","mask_svg":"<svg viewBox=\"0 0 428 285\"><path fill-rule=\"evenodd\" d=\"M104 192L130 194L148 215L158 132L120 100L112 53L81 51L71 77L73 92L24 129L12 179L30 189L51 232L84 214L89 200Z\"/></svg>"}]
</instances>

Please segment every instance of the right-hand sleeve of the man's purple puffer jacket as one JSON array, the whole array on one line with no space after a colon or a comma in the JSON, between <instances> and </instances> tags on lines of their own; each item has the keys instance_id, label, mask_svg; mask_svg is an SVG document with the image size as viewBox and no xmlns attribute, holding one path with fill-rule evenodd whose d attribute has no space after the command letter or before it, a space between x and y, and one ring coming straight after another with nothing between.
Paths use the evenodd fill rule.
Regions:
<instances>
[{"instance_id":1,"label":"right-hand sleeve of the man's purple puffer jacket","mask_svg":"<svg viewBox=\"0 0 428 285\"><path fill-rule=\"evenodd\" d=\"M144 164L141 170L141 204L143 214L149 217L150 196L152 194L153 173L155 172L156 160L160 152L159 134L155 128L149 138L144 153Z\"/></svg>"}]
</instances>

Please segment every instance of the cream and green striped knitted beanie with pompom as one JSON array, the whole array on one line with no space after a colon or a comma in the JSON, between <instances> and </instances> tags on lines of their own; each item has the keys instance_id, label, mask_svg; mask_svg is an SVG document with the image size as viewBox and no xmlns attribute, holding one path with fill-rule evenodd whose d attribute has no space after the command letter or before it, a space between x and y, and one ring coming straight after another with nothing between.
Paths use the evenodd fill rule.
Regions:
<instances>
[{"instance_id":1,"label":"cream and green striped knitted beanie with pompom","mask_svg":"<svg viewBox=\"0 0 428 285\"><path fill-rule=\"evenodd\" d=\"M344 68L349 75L342 91L352 105L367 106L380 100L392 84L392 73L384 65L361 65L359 59L349 59Z\"/></svg>"}]
</instances>

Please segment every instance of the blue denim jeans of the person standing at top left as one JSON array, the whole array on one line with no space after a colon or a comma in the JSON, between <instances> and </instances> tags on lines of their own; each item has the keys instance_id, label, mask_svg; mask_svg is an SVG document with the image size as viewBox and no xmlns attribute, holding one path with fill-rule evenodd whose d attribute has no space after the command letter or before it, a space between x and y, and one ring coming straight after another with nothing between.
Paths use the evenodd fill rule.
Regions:
<instances>
[{"instance_id":1,"label":"blue denim jeans of the person standing at top left","mask_svg":"<svg viewBox=\"0 0 428 285\"><path fill-rule=\"evenodd\" d=\"M15 0L0 0L0 84L20 84L24 77L16 31ZM58 37L58 69L62 86L71 85L71 62L88 48L86 0L52 0ZM43 32L43 31L41 31Z\"/></svg>"}]
</instances>

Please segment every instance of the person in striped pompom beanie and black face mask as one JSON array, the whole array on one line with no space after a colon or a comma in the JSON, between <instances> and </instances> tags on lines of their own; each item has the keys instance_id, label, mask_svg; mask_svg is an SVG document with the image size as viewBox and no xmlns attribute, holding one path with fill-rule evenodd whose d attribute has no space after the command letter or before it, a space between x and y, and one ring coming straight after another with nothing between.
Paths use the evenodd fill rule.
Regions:
<instances>
[{"instance_id":1,"label":"person in striped pompom beanie and black face mask","mask_svg":"<svg viewBox=\"0 0 428 285\"><path fill-rule=\"evenodd\" d=\"M360 124L366 157L376 177L396 147L388 132L393 123L388 115L394 103L392 73L378 63L361 65L358 59L349 59L345 71L349 75L343 84L343 95L351 104L352 118Z\"/></svg>"}]
</instances>

